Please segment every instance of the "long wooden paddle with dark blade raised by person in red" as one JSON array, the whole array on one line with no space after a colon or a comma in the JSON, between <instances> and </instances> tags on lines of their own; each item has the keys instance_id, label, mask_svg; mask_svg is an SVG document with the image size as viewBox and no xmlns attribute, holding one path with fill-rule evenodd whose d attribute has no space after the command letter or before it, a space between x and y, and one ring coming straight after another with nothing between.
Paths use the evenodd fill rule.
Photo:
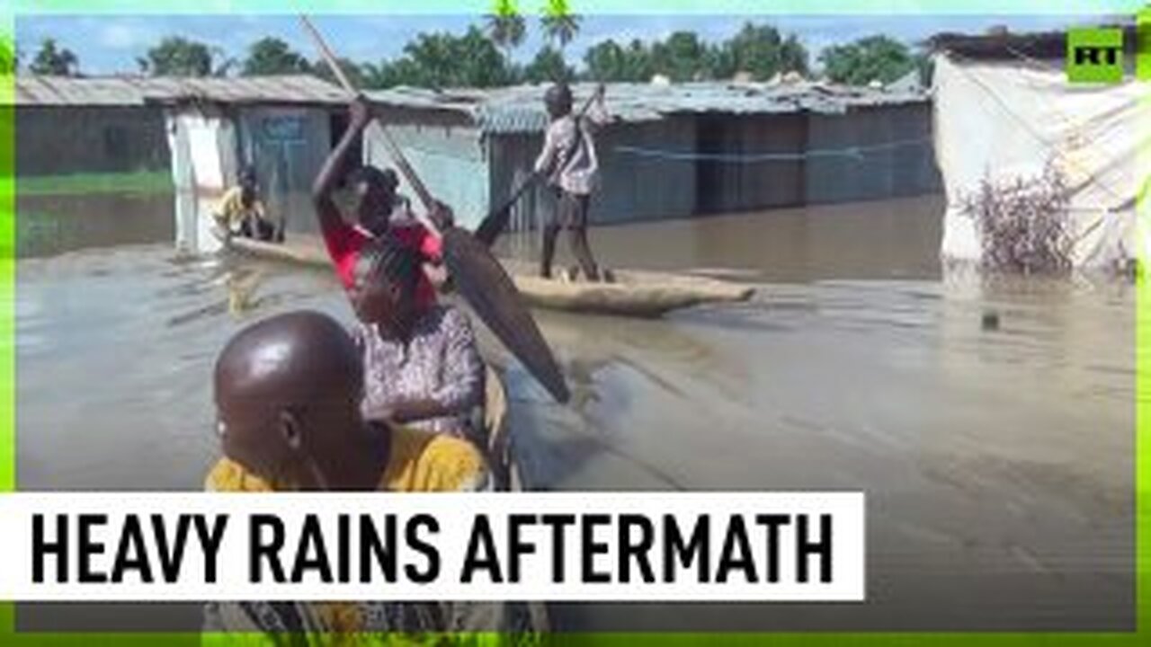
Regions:
<instances>
[{"instance_id":1,"label":"long wooden paddle with dark blade raised by person in red","mask_svg":"<svg viewBox=\"0 0 1151 647\"><path fill-rule=\"evenodd\" d=\"M306 16L300 16L305 31L315 41L331 74L340 81L343 89L352 97L359 92L344 76L335 54L328 48L323 37L312 25ZM381 142L388 154L403 174L407 184L424 205L425 213L417 214L420 223L443 242L443 261L451 273L456 288L475 311L475 314L488 326L501 342L524 364L529 373L548 390L556 401L566 403L571 398L564 374L559 371L551 348L540 334L531 311L524 303L511 276L491 256L487 245L477 241L471 234L458 227L449 226L443 230L427 215L440 208L440 203L420 181L416 170L407 163L399 145L391 138L387 128L378 121L368 125L366 134Z\"/></svg>"}]
</instances>

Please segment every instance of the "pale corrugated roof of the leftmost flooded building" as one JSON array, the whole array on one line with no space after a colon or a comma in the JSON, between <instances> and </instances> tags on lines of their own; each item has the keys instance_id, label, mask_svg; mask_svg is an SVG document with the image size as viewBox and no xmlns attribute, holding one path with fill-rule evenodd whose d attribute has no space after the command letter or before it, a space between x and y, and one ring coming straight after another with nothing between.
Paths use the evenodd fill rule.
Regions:
<instances>
[{"instance_id":1,"label":"pale corrugated roof of the leftmost flooded building","mask_svg":"<svg viewBox=\"0 0 1151 647\"><path fill-rule=\"evenodd\" d=\"M142 106L181 101L343 105L338 86L308 75L237 78L17 76L17 106Z\"/></svg>"}]
</instances>

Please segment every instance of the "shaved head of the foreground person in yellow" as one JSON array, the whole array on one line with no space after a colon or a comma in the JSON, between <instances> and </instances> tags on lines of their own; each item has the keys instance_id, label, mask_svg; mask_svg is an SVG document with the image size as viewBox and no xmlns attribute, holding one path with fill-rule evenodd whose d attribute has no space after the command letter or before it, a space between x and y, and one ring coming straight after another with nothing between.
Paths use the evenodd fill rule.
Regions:
<instances>
[{"instance_id":1,"label":"shaved head of the foreground person in yellow","mask_svg":"<svg viewBox=\"0 0 1151 647\"><path fill-rule=\"evenodd\" d=\"M284 488L330 487L368 435L363 379L356 344L326 314L279 314L244 328L215 365L224 454Z\"/></svg>"}]
</instances>

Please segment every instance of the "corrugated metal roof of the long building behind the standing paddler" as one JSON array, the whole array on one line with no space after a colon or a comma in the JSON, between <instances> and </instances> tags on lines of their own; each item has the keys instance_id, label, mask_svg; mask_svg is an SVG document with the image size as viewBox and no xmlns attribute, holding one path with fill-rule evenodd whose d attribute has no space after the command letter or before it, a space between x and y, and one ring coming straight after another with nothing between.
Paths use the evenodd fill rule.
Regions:
<instances>
[{"instance_id":1,"label":"corrugated metal roof of the long building behind the standing paddler","mask_svg":"<svg viewBox=\"0 0 1151 647\"><path fill-rule=\"evenodd\" d=\"M538 132L547 127L543 85L495 90L435 91L394 87L369 92L381 105L447 111L470 116L485 132ZM573 87L576 105L592 94L593 84ZM771 114L810 111L843 113L848 107L927 101L922 91L886 91L813 82L610 84L609 111L623 122L658 121L672 114Z\"/></svg>"}]
</instances>

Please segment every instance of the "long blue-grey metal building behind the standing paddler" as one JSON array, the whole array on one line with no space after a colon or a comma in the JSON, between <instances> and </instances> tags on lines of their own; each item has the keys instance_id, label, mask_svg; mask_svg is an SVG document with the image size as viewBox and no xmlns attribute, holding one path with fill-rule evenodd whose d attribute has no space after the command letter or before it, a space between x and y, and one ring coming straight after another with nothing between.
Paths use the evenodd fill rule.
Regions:
<instances>
[{"instance_id":1,"label":"long blue-grey metal building behind the standing paddler","mask_svg":"<svg viewBox=\"0 0 1151 647\"><path fill-rule=\"evenodd\" d=\"M372 92L420 176L474 226L531 174L547 128L543 86ZM594 86L574 89L576 105ZM597 137L594 222L884 199L936 192L922 90L817 83L611 84ZM373 163L383 146L365 143ZM513 220L550 208L536 190Z\"/></svg>"}]
</instances>

